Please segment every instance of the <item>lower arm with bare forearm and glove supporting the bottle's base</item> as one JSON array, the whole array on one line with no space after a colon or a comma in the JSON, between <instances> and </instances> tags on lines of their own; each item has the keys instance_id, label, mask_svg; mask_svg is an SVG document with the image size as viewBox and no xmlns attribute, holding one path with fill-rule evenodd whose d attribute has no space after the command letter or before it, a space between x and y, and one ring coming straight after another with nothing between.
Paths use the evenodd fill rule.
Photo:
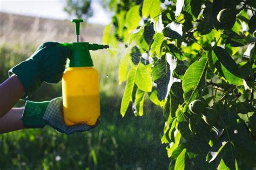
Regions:
<instances>
[{"instance_id":1,"label":"lower arm with bare forearm and glove supporting the bottle's base","mask_svg":"<svg viewBox=\"0 0 256 170\"><path fill-rule=\"evenodd\" d=\"M25 128L44 128L50 125L53 129L66 134L88 131L98 125L90 126L77 124L67 126L63 119L62 97L51 101L32 102L26 101L24 108L11 109L0 119L0 133L16 131Z\"/></svg>"}]
</instances>

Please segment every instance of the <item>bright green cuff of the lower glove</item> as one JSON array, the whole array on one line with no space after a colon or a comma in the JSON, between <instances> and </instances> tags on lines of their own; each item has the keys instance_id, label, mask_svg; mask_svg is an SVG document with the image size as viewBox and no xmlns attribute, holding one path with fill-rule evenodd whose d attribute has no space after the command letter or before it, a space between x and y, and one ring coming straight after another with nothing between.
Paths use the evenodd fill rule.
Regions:
<instances>
[{"instance_id":1,"label":"bright green cuff of the lower glove","mask_svg":"<svg viewBox=\"0 0 256 170\"><path fill-rule=\"evenodd\" d=\"M22 122L25 128L43 128L46 124L43 116L49 102L31 102L26 101L25 109L22 115Z\"/></svg>"}]
</instances>

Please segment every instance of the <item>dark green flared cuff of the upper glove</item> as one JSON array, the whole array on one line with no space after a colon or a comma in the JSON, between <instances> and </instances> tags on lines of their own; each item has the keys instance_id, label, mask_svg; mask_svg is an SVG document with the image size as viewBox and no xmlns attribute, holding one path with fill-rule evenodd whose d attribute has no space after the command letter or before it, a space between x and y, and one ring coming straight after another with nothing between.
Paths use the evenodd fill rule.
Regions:
<instances>
[{"instance_id":1,"label":"dark green flared cuff of the upper glove","mask_svg":"<svg viewBox=\"0 0 256 170\"><path fill-rule=\"evenodd\" d=\"M32 96L42 84L35 63L32 62L30 59L25 60L9 70L9 76L15 74L25 89L25 95L22 97L24 100Z\"/></svg>"}]
</instances>

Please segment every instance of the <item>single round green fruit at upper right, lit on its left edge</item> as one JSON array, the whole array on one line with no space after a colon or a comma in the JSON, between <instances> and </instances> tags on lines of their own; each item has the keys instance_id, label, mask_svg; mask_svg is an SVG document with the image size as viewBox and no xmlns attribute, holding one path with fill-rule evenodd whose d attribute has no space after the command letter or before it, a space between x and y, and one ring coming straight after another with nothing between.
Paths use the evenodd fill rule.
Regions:
<instances>
[{"instance_id":1,"label":"single round green fruit at upper right, lit on its left edge","mask_svg":"<svg viewBox=\"0 0 256 170\"><path fill-rule=\"evenodd\" d=\"M223 25L224 29L232 29L237 19L237 13L233 9L223 9L219 11L217 19Z\"/></svg>"}]
</instances>

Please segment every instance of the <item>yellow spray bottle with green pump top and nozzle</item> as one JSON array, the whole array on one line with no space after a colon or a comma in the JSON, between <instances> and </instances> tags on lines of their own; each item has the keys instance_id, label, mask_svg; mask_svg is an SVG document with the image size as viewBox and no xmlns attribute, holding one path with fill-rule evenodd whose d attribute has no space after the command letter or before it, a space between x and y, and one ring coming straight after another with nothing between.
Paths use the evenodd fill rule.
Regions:
<instances>
[{"instance_id":1,"label":"yellow spray bottle with green pump top and nozzle","mask_svg":"<svg viewBox=\"0 0 256 170\"><path fill-rule=\"evenodd\" d=\"M79 24L82 19L73 19L77 42L63 43L71 49L68 68L62 79L63 111L66 125L95 125L99 110L99 74L93 68L89 50L109 48L107 45L79 42Z\"/></svg>"}]
</instances>

